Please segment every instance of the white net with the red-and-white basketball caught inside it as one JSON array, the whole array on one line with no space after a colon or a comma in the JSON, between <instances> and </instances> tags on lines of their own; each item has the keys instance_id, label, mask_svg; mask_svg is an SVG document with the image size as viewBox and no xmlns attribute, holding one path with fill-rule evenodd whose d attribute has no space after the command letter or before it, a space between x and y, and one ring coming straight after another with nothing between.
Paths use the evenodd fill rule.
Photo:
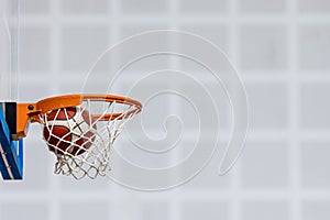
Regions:
<instances>
[{"instance_id":1,"label":"white net with the red-and-white basketball caught inside it","mask_svg":"<svg viewBox=\"0 0 330 220\"><path fill-rule=\"evenodd\" d=\"M76 179L105 176L110 170L112 144L134 116L132 109L116 101L87 100L40 114L44 140L57 160L54 173Z\"/></svg>"}]
</instances>

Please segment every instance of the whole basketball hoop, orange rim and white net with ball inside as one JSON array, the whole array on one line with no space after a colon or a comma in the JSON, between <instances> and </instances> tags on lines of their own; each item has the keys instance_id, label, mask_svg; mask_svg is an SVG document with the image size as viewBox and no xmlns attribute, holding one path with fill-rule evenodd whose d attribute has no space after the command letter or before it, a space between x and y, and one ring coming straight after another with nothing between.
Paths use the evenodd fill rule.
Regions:
<instances>
[{"instance_id":1,"label":"whole basketball hoop, orange rim and white net with ball inside","mask_svg":"<svg viewBox=\"0 0 330 220\"><path fill-rule=\"evenodd\" d=\"M139 101L112 95L66 95L18 103L13 138L25 138L29 123L38 122L56 155L55 174L96 178L110 169L114 140L141 109Z\"/></svg>"}]
</instances>

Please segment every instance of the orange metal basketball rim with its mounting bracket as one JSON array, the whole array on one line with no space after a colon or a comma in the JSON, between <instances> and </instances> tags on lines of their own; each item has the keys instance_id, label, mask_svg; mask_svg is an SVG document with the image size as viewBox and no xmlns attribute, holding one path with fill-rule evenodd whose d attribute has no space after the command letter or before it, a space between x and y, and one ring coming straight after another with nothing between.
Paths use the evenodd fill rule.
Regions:
<instances>
[{"instance_id":1,"label":"orange metal basketball rim with its mounting bracket","mask_svg":"<svg viewBox=\"0 0 330 220\"><path fill-rule=\"evenodd\" d=\"M18 120L16 120L16 135L14 139L21 139L26 136L29 122L40 122L38 114L47 113L55 109L75 107L82 103L82 101L105 101L128 105L134 107L128 112L113 112L111 114L92 114L95 119L101 121L108 120L121 120L129 118L132 114L136 114L141 111L142 105L140 101L121 96L114 95L96 95L96 94L82 94L82 95L65 95L58 97L51 97L42 99L36 103L18 103Z\"/></svg>"}]
</instances>

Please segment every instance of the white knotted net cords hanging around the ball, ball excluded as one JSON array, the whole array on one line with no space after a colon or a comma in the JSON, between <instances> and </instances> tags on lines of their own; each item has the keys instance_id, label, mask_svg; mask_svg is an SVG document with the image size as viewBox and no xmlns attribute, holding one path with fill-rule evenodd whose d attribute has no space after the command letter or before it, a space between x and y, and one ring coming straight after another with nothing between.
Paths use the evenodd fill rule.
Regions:
<instances>
[{"instance_id":1,"label":"white knotted net cords hanging around the ball, ball excluded","mask_svg":"<svg viewBox=\"0 0 330 220\"><path fill-rule=\"evenodd\" d=\"M86 176L94 179L97 176L105 176L107 172L111 169L110 167L110 151L112 148L113 142L120 132L123 130L124 125L134 117L134 113L129 113L133 107L119 105L116 101L112 102L105 102L103 103L103 111L100 114L92 114L94 108L92 103L89 100L84 101L80 106L76 107L77 117L80 119L82 118L82 112L88 111L89 113L89 121L91 122L88 124L88 129L84 130L84 133L77 133L72 122L69 122L70 118L68 117L66 109L56 109L52 112L56 111L56 116L54 119L48 120L48 113L40 114L40 121L43 125L43 129L47 129L50 133L50 138L44 141L47 145L54 148L54 153L56 155L56 163L55 163L55 174L62 174L69 176L72 175L76 179L81 179ZM116 112L116 107L122 106L124 109L121 109L121 114L111 120L111 116ZM67 123L67 128L69 128L69 132L64 136L55 135L53 131L53 122L58 120L57 117L61 111L65 112ZM86 112L85 112L86 113ZM105 121L103 118L106 114L110 114L110 119ZM98 116L97 118L95 116ZM63 121L63 119L61 120ZM79 125L79 124L75 124ZM76 136L84 136L86 133L92 133L91 136L88 136L88 143L91 143L89 147L85 147L85 144L77 144L75 140L67 141L65 138L67 135L76 135ZM57 144L54 145L50 143L51 138L58 140ZM86 138L84 138L86 139ZM67 143L68 147L64 151L58 145L59 143ZM70 148L78 148L75 151L76 153L70 153ZM78 153L80 152L80 154ZM84 152L84 153L81 153Z\"/></svg>"}]
</instances>

